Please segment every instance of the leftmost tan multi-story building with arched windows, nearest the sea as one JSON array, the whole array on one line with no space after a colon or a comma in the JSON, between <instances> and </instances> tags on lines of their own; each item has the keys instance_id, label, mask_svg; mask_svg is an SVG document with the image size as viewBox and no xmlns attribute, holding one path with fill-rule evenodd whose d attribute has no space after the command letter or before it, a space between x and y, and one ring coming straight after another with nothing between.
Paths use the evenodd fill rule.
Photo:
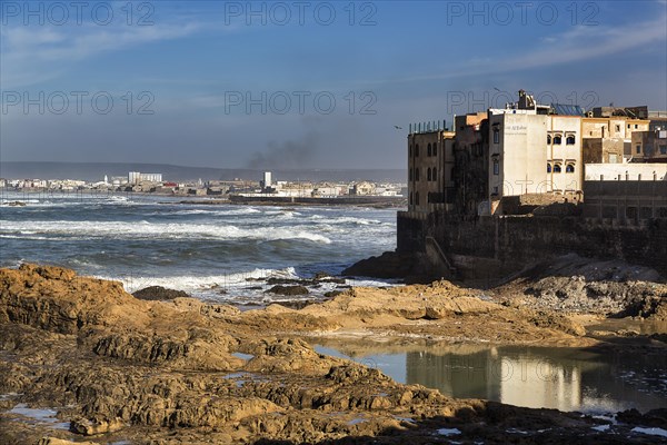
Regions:
<instances>
[{"instance_id":1,"label":"leftmost tan multi-story building with arched windows, nearest the sea","mask_svg":"<svg viewBox=\"0 0 667 445\"><path fill-rule=\"evenodd\" d=\"M436 123L425 127L408 135L408 210L447 210L455 200L455 134Z\"/></svg>"}]
</instances>

